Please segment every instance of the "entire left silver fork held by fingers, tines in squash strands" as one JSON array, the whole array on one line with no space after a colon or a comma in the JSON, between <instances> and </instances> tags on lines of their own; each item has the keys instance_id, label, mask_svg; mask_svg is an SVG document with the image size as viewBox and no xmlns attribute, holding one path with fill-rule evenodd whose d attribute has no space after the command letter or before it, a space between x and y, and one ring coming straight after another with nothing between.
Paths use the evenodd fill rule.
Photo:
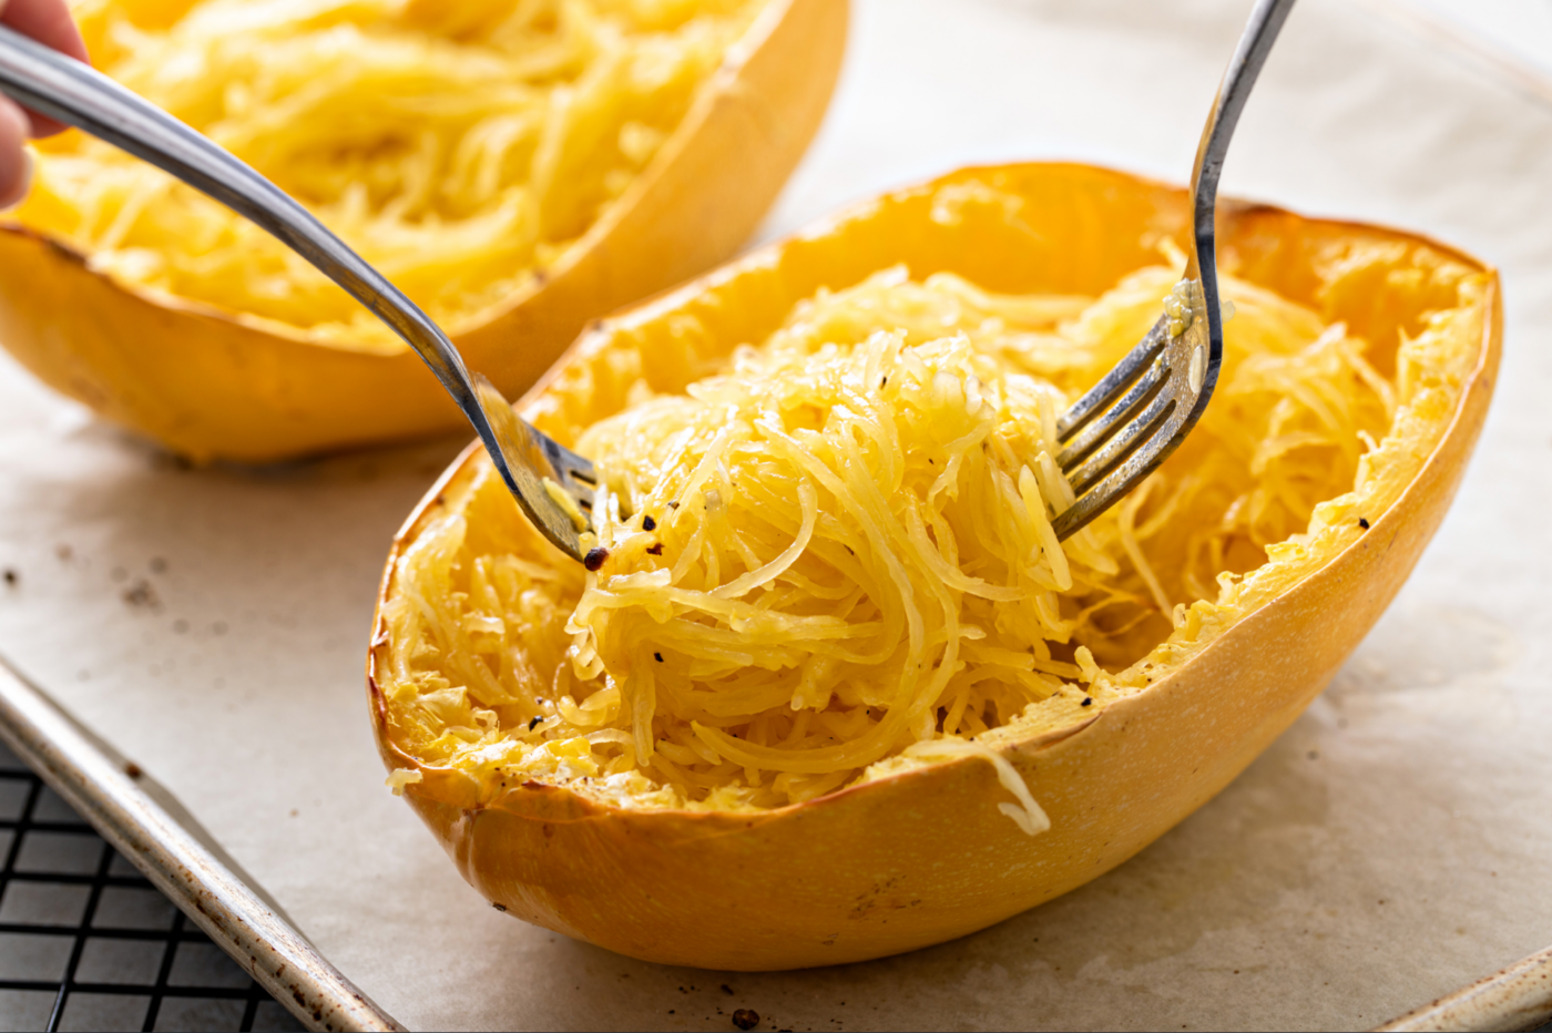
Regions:
<instances>
[{"instance_id":1,"label":"entire left silver fork held by fingers, tines in squash strands","mask_svg":"<svg viewBox=\"0 0 1552 1033\"><path fill-rule=\"evenodd\" d=\"M161 109L5 26L0 26L0 93L171 172L272 233L349 292L431 368L534 526L582 563L598 566L601 557L590 557L580 543L593 507L593 464L518 419L489 380L470 377L458 349L430 316L306 208ZM546 481L576 506L557 501Z\"/></svg>"}]
</instances>

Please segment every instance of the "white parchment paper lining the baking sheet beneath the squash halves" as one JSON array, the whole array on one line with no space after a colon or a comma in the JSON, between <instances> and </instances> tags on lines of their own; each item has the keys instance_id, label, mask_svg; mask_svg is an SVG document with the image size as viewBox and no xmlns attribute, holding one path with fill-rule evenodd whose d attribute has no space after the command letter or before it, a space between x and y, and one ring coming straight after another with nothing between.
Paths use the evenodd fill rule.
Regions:
<instances>
[{"instance_id":1,"label":"white parchment paper lining the baking sheet beneath the squash halves","mask_svg":"<svg viewBox=\"0 0 1552 1033\"><path fill-rule=\"evenodd\" d=\"M1245 0L854 0L765 236L970 161L1181 180ZM459 440L186 470L0 358L0 651L428 1028L1360 1027L1552 940L1552 107L1383 6L1304 0L1225 191L1501 265L1499 396L1392 611L1243 777L982 934L796 974L669 969L498 915L382 788L362 690L388 538Z\"/></svg>"}]
</instances>

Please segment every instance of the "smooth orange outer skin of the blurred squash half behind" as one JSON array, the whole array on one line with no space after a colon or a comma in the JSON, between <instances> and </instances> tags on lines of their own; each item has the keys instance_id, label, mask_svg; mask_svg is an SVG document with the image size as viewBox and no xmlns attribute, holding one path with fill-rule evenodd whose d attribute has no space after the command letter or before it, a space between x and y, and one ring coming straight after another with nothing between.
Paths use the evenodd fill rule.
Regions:
<instances>
[{"instance_id":1,"label":"smooth orange outer skin of the blurred squash half behind","mask_svg":"<svg viewBox=\"0 0 1552 1033\"><path fill-rule=\"evenodd\" d=\"M470 369L525 391L587 320L726 259L818 130L846 48L846 0L770 0L627 194L537 285L450 327ZM273 462L424 437L464 417L414 352L120 284L0 223L0 343L34 375L196 462Z\"/></svg>"}]
</instances>

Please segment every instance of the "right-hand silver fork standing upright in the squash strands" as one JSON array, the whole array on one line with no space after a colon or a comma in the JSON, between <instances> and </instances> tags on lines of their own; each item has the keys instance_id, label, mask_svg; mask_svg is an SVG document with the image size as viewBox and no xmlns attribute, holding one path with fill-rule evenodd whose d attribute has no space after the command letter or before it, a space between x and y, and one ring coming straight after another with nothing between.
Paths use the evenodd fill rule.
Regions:
<instances>
[{"instance_id":1,"label":"right-hand silver fork standing upright in the squash strands","mask_svg":"<svg viewBox=\"0 0 1552 1033\"><path fill-rule=\"evenodd\" d=\"M1186 273L1147 337L1057 420L1057 465L1077 501L1054 521L1066 540L1153 473L1201 419L1223 364L1214 216L1229 138L1294 0L1257 0L1197 144Z\"/></svg>"}]
</instances>

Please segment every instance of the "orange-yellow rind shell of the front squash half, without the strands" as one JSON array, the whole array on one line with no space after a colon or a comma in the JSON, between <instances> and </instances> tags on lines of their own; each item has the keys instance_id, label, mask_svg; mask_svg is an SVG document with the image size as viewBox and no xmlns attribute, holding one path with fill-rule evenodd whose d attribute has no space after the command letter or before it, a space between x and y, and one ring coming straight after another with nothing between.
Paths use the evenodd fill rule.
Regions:
<instances>
[{"instance_id":1,"label":"orange-yellow rind shell of the front squash half, without the strands","mask_svg":"<svg viewBox=\"0 0 1552 1033\"><path fill-rule=\"evenodd\" d=\"M1021 250L990 223L933 222L942 186L1003 177L1029 200L1048 244ZM864 203L585 335L523 400L531 417L568 420L624 403L629 377L596 361L635 346L658 389L680 372L675 315L695 313L715 341L762 340L790 304L906 262L951 268L993 290L1090 290L1153 261L1144 231L1181 233L1183 191L1066 164L967 169ZM975 225L972 225L975 223ZM1121 233L1125 226L1131 233ZM1110 236L1105 236L1105 234ZM1128 859L1212 799L1315 700L1406 580L1459 485L1496 377L1502 306L1496 273L1411 234L1321 222L1265 206L1220 212L1220 248L1240 275L1308 301L1310 256L1341 240L1426 248L1490 275L1482 337L1448 427L1408 487L1370 527L1311 574L1252 610L1136 695L1006 748L1051 817L1029 839L995 808L1006 800L982 760L961 758L756 814L629 811L539 783L495 789L422 765L394 741L393 713L368 692L390 769L419 771L405 799L458 870L494 904L632 957L719 969L785 969L874 959L982 929ZM999 236L1001 234L1001 236ZM1074 244L1093 245L1065 261ZM1012 261L1017 257L1017 262ZM1383 287L1383 285L1381 285ZM1336 299L1355 332L1412 329L1439 299L1377 288ZM683 343L681 343L683 344ZM681 351L694 351L683 344ZM658 357L663 357L661 361ZM453 464L396 538L394 560L480 461ZM382 633L379 619L377 628Z\"/></svg>"}]
</instances>

